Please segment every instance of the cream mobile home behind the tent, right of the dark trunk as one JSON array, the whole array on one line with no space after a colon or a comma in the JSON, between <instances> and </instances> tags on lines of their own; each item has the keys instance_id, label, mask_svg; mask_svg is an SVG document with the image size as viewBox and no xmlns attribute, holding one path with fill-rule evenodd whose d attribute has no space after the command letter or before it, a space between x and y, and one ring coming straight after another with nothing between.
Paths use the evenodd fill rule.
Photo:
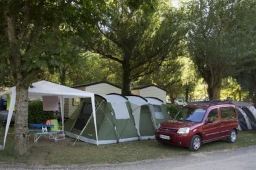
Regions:
<instances>
[{"instance_id":1,"label":"cream mobile home behind the tent, right of the dark trunk","mask_svg":"<svg viewBox=\"0 0 256 170\"><path fill-rule=\"evenodd\" d=\"M131 93L133 95L146 97L154 97L161 99L164 103L166 103L166 90L158 87L157 85L141 85L138 87L131 88Z\"/></svg>"}]
</instances>

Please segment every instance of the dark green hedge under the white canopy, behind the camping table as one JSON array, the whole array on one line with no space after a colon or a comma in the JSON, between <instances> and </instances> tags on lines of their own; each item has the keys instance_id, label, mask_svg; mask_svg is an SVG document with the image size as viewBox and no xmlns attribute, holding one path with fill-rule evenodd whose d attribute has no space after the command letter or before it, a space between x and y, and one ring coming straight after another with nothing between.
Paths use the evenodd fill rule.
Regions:
<instances>
[{"instance_id":1,"label":"dark green hedge under the white canopy, behind the camping table","mask_svg":"<svg viewBox=\"0 0 256 170\"><path fill-rule=\"evenodd\" d=\"M42 101L30 101L28 104L28 123L46 123L53 118L54 112L44 111Z\"/></svg>"}]
</instances>

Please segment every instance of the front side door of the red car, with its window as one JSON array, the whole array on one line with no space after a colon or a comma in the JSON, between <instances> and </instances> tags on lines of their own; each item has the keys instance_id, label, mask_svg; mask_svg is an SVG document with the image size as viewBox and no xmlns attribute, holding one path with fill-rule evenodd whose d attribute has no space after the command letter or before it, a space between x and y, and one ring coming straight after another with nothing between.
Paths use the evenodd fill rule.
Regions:
<instances>
[{"instance_id":1,"label":"front side door of the red car, with its window","mask_svg":"<svg viewBox=\"0 0 256 170\"><path fill-rule=\"evenodd\" d=\"M212 123L209 123L207 121L209 120L209 118L213 119ZM220 114L217 108L209 111L205 125L203 127L203 135L204 142L214 141L215 139L220 137Z\"/></svg>"}]
</instances>

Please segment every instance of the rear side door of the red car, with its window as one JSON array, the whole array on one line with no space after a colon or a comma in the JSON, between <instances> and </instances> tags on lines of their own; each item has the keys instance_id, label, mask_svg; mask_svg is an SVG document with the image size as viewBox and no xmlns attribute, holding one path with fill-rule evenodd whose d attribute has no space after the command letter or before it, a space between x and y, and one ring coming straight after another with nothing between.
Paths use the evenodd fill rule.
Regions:
<instances>
[{"instance_id":1,"label":"rear side door of the red car, with its window","mask_svg":"<svg viewBox=\"0 0 256 170\"><path fill-rule=\"evenodd\" d=\"M220 107L221 137L228 137L231 129L237 128L236 110L234 107Z\"/></svg>"}]
</instances>

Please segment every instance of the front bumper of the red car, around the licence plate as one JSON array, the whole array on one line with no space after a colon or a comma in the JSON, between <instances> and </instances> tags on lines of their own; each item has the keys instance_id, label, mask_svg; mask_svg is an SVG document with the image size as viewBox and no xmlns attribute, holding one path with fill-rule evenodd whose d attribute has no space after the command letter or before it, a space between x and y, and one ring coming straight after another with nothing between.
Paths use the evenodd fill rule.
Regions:
<instances>
[{"instance_id":1,"label":"front bumper of the red car, around the licence plate","mask_svg":"<svg viewBox=\"0 0 256 170\"><path fill-rule=\"evenodd\" d=\"M161 139L159 137L160 134L170 136L170 140ZM155 131L155 139L163 144L177 145L180 147L189 147L191 142L191 137L189 134L167 133L163 131Z\"/></svg>"}]
</instances>

